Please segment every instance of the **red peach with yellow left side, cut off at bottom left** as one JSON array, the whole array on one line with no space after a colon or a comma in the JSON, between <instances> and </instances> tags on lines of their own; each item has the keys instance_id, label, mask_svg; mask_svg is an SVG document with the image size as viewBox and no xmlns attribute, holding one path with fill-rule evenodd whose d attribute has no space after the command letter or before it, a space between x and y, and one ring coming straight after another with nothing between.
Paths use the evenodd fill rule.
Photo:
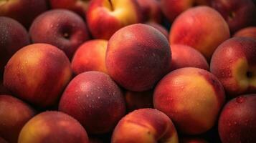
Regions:
<instances>
[{"instance_id":1,"label":"red peach with yellow left side, cut off at bottom left","mask_svg":"<svg viewBox=\"0 0 256 143\"><path fill-rule=\"evenodd\" d=\"M89 143L76 119L62 112L42 112L25 124L18 143Z\"/></svg>"}]
</instances>

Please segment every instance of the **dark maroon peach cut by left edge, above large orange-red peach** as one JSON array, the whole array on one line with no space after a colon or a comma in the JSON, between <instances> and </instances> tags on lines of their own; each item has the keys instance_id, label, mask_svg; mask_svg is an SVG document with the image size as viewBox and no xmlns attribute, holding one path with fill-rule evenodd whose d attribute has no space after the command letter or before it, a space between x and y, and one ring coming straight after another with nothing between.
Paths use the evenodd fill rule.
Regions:
<instances>
[{"instance_id":1,"label":"dark maroon peach cut by left edge, above large orange-red peach","mask_svg":"<svg viewBox=\"0 0 256 143\"><path fill-rule=\"evenodd\" d=\"M0 16L0 41L1 80L4 74L4 66L7 61L16 51L29 44L29 34L24 26L19 24L18 21L9 17Z\"/></svg>"}]
</instances>

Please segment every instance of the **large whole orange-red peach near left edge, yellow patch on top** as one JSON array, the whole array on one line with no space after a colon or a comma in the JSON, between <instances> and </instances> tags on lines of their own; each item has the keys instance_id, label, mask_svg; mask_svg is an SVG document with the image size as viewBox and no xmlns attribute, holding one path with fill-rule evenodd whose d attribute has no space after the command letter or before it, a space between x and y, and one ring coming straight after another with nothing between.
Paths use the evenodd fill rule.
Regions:
<instances>
[{"instance_id":1,"label":"large whole orange-red peach near left edge, yellow patch on top","mask_svg":"<svg viewBox=\"0 0 256 143\"><path fill-rule=\"evenodd\" d=\"M16 97L44 108L57 102L71 76L63 51L49 44L30 44L6 64L4 86Z\"/></svg>"}]
</instances>

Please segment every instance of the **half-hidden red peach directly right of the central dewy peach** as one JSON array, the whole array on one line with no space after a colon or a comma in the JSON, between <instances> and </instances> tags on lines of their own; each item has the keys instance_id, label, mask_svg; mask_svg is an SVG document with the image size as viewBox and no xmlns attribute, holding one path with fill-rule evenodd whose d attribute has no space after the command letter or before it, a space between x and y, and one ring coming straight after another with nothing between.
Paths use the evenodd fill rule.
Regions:
<instances>
[{"instance_id":1,"label":"half-hidden red peach directly right of the central dewy peach","mask_svg":"<svg viewBox=\"0 0 256 143\"><path fill-rule=\"evenodd\" d=\"M207 59L191 46L173 44L171 45L171 71L182 67L197 67L209 71Z\"/></svg>"}]
</instances>

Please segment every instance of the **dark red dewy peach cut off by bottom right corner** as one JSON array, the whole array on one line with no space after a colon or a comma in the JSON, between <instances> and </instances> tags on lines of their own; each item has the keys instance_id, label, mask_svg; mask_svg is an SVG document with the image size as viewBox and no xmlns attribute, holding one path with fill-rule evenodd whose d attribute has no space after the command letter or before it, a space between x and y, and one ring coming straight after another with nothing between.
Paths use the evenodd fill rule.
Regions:
<instances>
[{"instance_id":1,"label":"dark red dewy peach cut off by bottom right corner","mask_svg":"<svg viewBox=\"0 0 256 143\"><path fill-rule=\"evenodd\" d=\"M219 117L219 136L223 143L256 142L256 94L229 101Z\"/></svg>"}]
</instances>

